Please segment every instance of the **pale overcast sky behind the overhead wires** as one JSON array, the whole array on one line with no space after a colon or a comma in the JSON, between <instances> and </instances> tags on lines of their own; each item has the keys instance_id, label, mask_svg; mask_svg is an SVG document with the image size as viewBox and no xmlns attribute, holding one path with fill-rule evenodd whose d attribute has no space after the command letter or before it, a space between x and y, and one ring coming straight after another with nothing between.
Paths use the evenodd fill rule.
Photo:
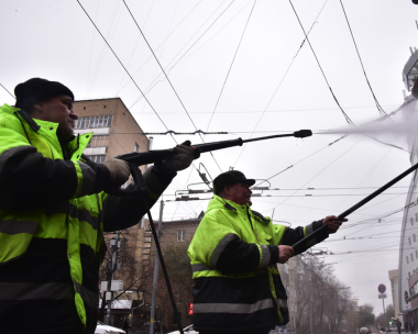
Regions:
<instances>
[{"instance_id":1,"label":"pale overcast sky behind the overhead wires","mask_svg":"<svg viewBox=\"0 0 418 334\"><path fill-rule=\"evenodd\" d=\"M196 127L164 79L123 1L80 0L80 3L136 85L146 91L168 130L230 133L205 138L216 142L239 136L249 138L253 131L253 136L262 136L346 125L307 43L284 78L304 41L304 33L286 0L256 1L216 111L254 2L127 0ZM377 119L380 114L366 86L340 1L294 0L293 3L306 31L326 3L309 35L320 65L338 101L356 125ZM343 3L370 82L388 113L403 103L402 70L410 56L409 46L416 46L418 7L408 0L345 0ZM121 97L145 132L166 131L77 1L2 1L0 31L0 84L10 92L15 85L32 77L57 80L68 86L78 100ZM14 103L1 87L0 98L6 103ZM213 155L223 171L234 166L249 178L256 179L270 178L294 165L272 178L271 187L300 190L265 192L272 198L254 198L253 209L270 216L275 209L275 220L298 226L341 213L374 190L360 188L381 187L410 166L408 153L367 137L349 136L328 146L339 137L278 138L249 144L244 151L234 147ZM201 143L198 135L175 138ZM389 141L403 144L402 137ZM170 136L154 136L154 148L174 145ZM209 154L195 166L199 167L199 163L213 178L220 172ZM200 181L196 169L182 171L164 199L174 199L175 190ZM400 188L387 190L387 194L373 200L366 209L350 215L350 223L378 218L404 207L408 185L409 178L400 181L396 185ZM340 189L308 191L306 188ZM194 189L205 187L194 186ZM334 196L305 197L306 193ZM207 201L167 202L164 220L196 216L206 205ZM155 218L157 207L153 209ZM402 213L380 224L373 221L373 224L346 227L321 245L336 254L327 255L326 259L336 263L338 277L352 287L359 303L372 303L376 314L382 311L377 286L385 283L391 297L387 271L397 268ZM377 233L386 234L378 238L337 241L343 236L364 237ZM380 252L354 253L378 247ZM337 255L344 252L353 253Z\"/></svg>"}]
</instances>

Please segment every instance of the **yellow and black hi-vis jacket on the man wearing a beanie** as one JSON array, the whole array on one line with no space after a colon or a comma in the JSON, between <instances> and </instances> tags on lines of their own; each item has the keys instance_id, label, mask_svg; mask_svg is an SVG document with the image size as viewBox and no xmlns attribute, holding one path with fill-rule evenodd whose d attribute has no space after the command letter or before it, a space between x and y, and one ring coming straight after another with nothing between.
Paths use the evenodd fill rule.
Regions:
<instances>
[{"instance_id":1,"label":"yellow and black hi-vis jacket on the man wearing a beanie","mask_svg":"<svg viewBox=\"0 0 418 334\"><path fill-rule=\"evenodd\" d=\"M0 108L0 319L7 333L94 333L102 232L128 229L145 213L139 198L102 191L109 170L81 157L92 133L63 141L57 127ZM173 177L155 167L145 171L150 208Z\"/></svg>"}]
</instances>

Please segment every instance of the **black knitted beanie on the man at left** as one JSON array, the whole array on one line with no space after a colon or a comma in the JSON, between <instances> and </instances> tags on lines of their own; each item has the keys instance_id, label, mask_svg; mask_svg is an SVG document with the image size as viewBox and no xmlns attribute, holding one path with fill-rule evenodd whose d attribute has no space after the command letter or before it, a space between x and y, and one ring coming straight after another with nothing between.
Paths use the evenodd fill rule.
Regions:
<instances>
[{"instance_id":1,"label":"black knitted beanie on the man at left","mask_svg":"<svg viewBox=\"0 0 418 334\"><path fill-rule=\"evenodd\" d=\"M16 97L15 107L24 110L28 105L32 108L33 103L46 101L59 94L70 97L74 102L73 91L63 84L41 78L32 78L19 84L14 88L14 96Z\"/></svg>"}]
</instances>

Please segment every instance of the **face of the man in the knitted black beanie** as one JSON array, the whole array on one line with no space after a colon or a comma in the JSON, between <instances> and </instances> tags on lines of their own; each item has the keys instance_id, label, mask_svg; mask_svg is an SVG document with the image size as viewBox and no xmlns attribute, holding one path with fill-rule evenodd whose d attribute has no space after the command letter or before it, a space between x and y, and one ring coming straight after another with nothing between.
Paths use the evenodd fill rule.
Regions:
<instances>
[{"instance_id":1,"label":"face of the man in the knitted black beanie","mask_svg":"<svg viewBox=\"0 0 418 334\"><path fill-rule=\"evenodd\" d=\"M45 102L34 105L36 111L33 113L34 119L59 123L58 129L64 138L74 134L75 121L78 115L73 110L73 99L68 96L56 96Z\"/></svg>"}]
</instances>

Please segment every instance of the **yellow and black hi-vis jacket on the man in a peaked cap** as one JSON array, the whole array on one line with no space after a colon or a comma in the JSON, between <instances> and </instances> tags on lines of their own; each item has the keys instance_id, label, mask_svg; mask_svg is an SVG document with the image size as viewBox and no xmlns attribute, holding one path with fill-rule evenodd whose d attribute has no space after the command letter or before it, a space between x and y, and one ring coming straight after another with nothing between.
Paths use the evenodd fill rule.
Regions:
<instances>
[{"instance_id":1,"label":"yellow and black hi-vis jacket on the man in a peaked cap","mask_svg":"<svg viewBox=\"0 0 418 334\"><path fill-rule=\"evenodd\" d=\"M213 196L188 248L195 329L256 332L285 325L287 296L277 245L293 245L321 225L275 225L249 205ZM326 237L324 232L315 242Z\"/></svg>"}]
</instances>

